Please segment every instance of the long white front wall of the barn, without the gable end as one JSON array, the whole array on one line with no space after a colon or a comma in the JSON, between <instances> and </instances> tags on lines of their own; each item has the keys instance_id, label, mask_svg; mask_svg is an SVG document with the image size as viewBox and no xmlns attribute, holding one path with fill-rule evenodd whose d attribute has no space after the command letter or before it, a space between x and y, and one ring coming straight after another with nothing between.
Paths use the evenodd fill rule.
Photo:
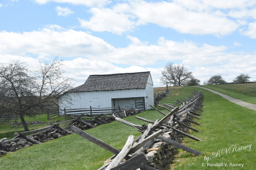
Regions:
<instances>
[{"instance_id":1,"label":"long white front wall of the barn, without the gable end","mask_svg":"<svg viewBox=\"0 0 256 170\"><path fill-rule=\"evenodd\" d=\"M94 108L102 107L112 107L112 98L134 98L134 97L145 97L146 89L129 89L129 90L108 90L108 91L93 91L93 92L77 92L77 93L67 93L71 99L68 103L64 101L66 96L62 96L59 99L60 114L64 114L64 107L66 109L79 109L79 108L89 108L90 106Z\"/></svg>"}]
</instances>

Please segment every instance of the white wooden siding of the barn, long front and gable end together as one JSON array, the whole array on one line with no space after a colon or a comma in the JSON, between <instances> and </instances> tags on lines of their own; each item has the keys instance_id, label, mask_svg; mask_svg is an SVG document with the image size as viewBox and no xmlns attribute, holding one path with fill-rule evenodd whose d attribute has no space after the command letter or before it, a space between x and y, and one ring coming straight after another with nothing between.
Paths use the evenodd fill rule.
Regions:
<instances>
[{"instance_id":1,"label":"white wooden siding of the barn, long front and gable end together","mask_svg":"<svg viewBox=\"0 0 256 170\"><path fill-rule=\"evenodd\" d=\"M64 99L70 97L69 100ZM115 98L135 98L144 97L145 109L151 109L149 105L154 105L154 89L151 75L148 76L146 89L125 89L125 90L108 90L108 91L93 91L93 92L73 92L61 96L59 99L60 114L64 114L66 109L80 109L112 107L112 99ZM128 101L129 99L127 99ZM71 104L72 103L72 104ZM130 105L132 105L130 103Z\"/></svg>"}]
</instances>

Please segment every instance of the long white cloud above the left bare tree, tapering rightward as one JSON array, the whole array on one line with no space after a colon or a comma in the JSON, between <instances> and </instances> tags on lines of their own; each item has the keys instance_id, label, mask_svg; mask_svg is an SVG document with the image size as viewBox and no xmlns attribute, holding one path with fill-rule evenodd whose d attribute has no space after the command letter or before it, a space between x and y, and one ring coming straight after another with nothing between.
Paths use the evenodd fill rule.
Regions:
<instances>
[{"instance_id":1,"label":"long white cloud above the left bare tree, tapering rightward","mask_svg":"<svg viewBox=\"0 0 256 170\"><path fill-rule=\"evenodd\" d=\"M32 32L0 32L0 53L26 55L88 56L112 52L114 47L82 31L59 30L56 25Z\"/></svg>"}]
</instances>

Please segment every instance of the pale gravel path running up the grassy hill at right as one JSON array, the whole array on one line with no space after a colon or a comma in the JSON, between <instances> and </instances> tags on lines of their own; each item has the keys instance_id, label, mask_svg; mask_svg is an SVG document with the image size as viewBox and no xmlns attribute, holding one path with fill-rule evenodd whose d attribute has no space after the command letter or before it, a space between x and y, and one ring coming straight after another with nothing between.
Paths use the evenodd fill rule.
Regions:
<instances>
[{"instance_id":1,"label":"pale gravel path running up the grassy hill at right","mask_svg":"<svg viewBox=\"0 0 256 170\"><path fill-rule=\"evenodd\" d=\"M199 86L194 86L194 87L202 88L202 87L199 87ZM225 99L228 99L229 101L231 101L233 103L236 103L237 105L246 107L246 108L251 109L251 110L256 110L256 105L254 105L254 104L247 103L247 102L241 101L240 99L236 99L236 98L233 98L233 97L226 96L225 94L216 92L216 91L208 89L208 88L202 88L202 89L205 89L205 90L208 90L208 91L210 91L212 93L218 94L218 95L224 97Z\"/></svg>"}]
</instances>

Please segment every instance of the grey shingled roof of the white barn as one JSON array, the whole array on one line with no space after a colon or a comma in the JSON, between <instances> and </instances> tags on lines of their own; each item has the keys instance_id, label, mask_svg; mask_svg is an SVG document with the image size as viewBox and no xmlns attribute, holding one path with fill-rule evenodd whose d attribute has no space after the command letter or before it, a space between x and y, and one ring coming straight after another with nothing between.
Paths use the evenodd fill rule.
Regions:
<instances>
[{"instance_id":1,"label":"grey shingled roof of the white barn","mask_svg":"<svg viewBox=\"0 0 256 170\"><path fill-rule=\"evenodd\" d=\"M150 72L90 75L83 85L67 92L144 89Z\"/></svg>"}]
</instances>

